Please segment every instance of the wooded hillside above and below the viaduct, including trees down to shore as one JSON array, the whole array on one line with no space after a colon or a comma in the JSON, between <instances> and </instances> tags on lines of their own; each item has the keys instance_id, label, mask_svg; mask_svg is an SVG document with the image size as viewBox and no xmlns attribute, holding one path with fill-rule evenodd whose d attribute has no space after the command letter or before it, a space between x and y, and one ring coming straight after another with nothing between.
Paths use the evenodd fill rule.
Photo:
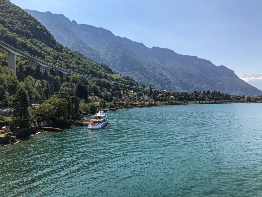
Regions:
<instances>
[{"instance_id":1,"label":"wooded hillside above and below the viaduct, including trees down to shore","mask_svg":"<svg viewBox=\"0 0 262 197\"><path fill-rule=\"evenodd\" d=\"M97 106L86 104L90 102L89 95L101 98L103 107L105 101L112 101L113 96L121 96L120 88L127 90L121 84L138 86L131 77L122 77L107 65L65 48L38 20L8 0L1 0L0 4L0 40L48 63L102 79L88 80L75 74L63 77L52 69L46 69L42 74L39 66L36 65L33 71L29 68L29 61L19 56L16 56L15 74L7 67L8 53L0 49L0 105L1 108L14 108L11 128L40 120L63 123L67 119L94 113ZM112 87L106 79L119 84ZM42 104L37 109L27 110L31 103Z\"/></svg>"}]
</instances>

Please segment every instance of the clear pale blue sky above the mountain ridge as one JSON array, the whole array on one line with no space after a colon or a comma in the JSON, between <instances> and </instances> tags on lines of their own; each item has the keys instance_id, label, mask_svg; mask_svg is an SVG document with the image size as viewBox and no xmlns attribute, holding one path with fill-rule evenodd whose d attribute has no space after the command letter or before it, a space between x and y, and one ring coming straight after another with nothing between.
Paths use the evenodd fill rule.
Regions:
<instances>
[{"instance_id":1,"label":"clear pale blue sky above the mountain ridge","mask_svg":"<svg viewBox=\"0 0 262 197\"><path fill-rule=\"evenodd\" d=\"M11 0L23 9L64 14L148 47L225 65L241 77L262 72L262 1Z\"/></svg>"}]
</instances>

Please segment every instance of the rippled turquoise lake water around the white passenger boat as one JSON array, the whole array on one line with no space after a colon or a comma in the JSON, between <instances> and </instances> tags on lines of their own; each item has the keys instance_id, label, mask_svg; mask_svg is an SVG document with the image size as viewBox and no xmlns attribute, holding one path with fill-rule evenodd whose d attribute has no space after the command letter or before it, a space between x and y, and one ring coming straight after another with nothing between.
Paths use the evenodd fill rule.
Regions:
<instances>
[{"instance_id":1,"label":"rippled turquoise lake water around the white passenger boat","mask_svg":"<svg viewBox=\"0 0 262 197\"><path fill-rule=\"evenodd\" d=\"M108 112L0 147L0 196L261 196L262 105Z\"/></svg>"}]
</instances>

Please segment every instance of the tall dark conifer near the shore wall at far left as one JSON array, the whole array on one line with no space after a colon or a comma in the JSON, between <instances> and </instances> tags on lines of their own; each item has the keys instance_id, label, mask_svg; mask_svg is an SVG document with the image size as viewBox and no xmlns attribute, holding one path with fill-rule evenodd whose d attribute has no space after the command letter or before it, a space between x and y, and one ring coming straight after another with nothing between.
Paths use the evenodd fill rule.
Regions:
<instances>
[{"instance_id":1,"label":"tall dark conifer near the shore wall at far left","mask_svg":"<svg viewBox=\"0 0 262 197\"><path fill-rule=\"evenodd\" d=\"M29 107L28 96L25 89L20 87L13 99L14 105L14 117L20 119L20 126L25 126L28 122L28 111Z\"/></svg>"}]
</instances>

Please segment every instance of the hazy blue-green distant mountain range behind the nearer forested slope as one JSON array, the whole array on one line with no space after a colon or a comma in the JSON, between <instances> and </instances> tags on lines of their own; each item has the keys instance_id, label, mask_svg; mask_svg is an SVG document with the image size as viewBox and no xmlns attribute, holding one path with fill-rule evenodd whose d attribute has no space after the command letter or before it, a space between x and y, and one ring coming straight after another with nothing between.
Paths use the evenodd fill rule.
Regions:
<instances>
[{"instance_id":1,"label":"hazy blue-green distant mountain range behind the nearer forested slope","mask_svg":"<svg viewBox=\"0 0 262 197\"><path fill-rule=\"evenodd\" d=\"M26 10L48 30L81 53L95 53L91 59L102 59L113 69L132 76L140 83L171 89L172 91L217 90L236 95L260 95L261 90L241 80L234 71L225 66L215 66L209 60L196 56L181 55L173 50L159 47L148 48L143 43L114 35L109 30L70 21L62 14L41 13ZM73 36L74 34L74 36ZM89 47L83 49L83 43ZM90 48L91 47L91 48ZM88 52L85 52L88 51Z\"/></svg>"}]
</instances>

